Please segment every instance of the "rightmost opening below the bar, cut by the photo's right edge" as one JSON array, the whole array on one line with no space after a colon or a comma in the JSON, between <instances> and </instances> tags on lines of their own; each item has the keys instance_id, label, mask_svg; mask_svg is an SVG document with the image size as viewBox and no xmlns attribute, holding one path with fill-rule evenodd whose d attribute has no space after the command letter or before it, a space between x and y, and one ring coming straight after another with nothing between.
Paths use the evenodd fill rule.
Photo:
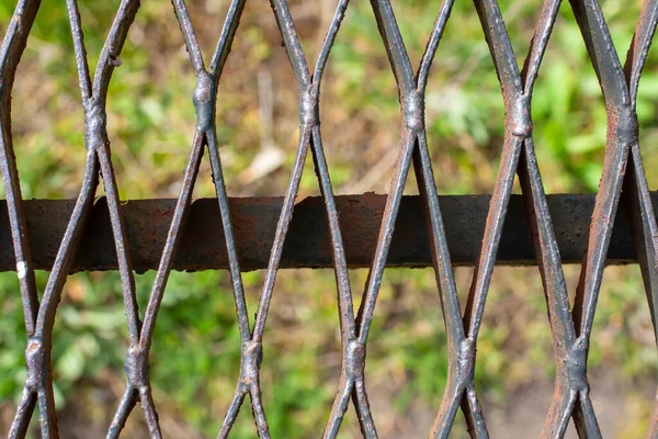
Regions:
<instances>
[{"instance_id":1,"label":"rightmost opening below the bar, cut by the photo's right edge","mask_svg":"<svg viewBox=\"0 0 658 439\"><path fill-rule=\"evenodd\" d=\"M658 359L638 266L605 269L588 363L601 434L644 435L655 403Z\"/></svg>"}]
</instances>

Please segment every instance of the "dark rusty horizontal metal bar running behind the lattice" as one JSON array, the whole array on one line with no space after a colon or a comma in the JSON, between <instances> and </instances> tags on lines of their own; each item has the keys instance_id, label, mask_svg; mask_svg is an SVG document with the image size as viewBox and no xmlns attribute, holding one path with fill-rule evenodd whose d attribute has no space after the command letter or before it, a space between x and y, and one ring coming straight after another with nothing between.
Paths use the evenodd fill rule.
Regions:
<instances>
[{"instance_id":1,"label":"dark rusty horizontal metal bar running behind the lattice","mask_svg":"<svg viewBox=\"0 0 658 439\"><path fill-rule=\"evenodd\" d=\"M651 194L654 198L656 193ZM480 247L489 195L440 196L441 211L454 264L474 264ZM384 211L385 195L363 194L337 198L345 256L351 268L367 267L373 257ZM30 243L36 269L53 266L59 243L72 211L72 200L32 200L25 202ZM654 205L658 204L655 200ZM131 257L135 270L158 267L175 200L124 202ZM229 201L236 243L245 271L266 267L281 212L281 198L245 198ZM565 263L580 262L587 245L593 194L548 195L555 234ZM15 270L7 203L0 201L0 271ZM282 268L331 267L331 246L319 196L302 199L295 206L286 239ZM224 233L217 202L196 200L190 210L175 270L207 270L228 267ZM397 219L389 267L428 267L424 209L419 196L405 196ZM631 227L623 207L616 215L608 263L636 261ZM536 264L532 236L521 195L512 195L498 251L498 263ZM100 198L83 233L72 271L115 270L117 268L107 204Z\"/></svg>"}]
</instances>

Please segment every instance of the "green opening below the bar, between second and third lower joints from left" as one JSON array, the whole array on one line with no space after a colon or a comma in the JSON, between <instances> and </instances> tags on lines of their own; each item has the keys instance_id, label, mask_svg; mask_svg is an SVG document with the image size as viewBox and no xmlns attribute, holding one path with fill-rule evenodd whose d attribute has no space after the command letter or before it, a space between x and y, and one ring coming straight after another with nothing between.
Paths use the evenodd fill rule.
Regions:
<instances>
[{"instance_id":1,"label":"green opening below the bar, between second and third lower joints from left","mask_svg":"<svg viewBox=\"0 0 658 439\"><path fill-rule=\"evenodd\" d=\"M145 278L146 288L139 291L141 309L146 308L154 275ZM260 272L243 275L251 324L261 278ZM266 359L271 353L266 340L264 352ZM240 371L239 328L227 272L171 274L154 333L150 371L161 425L180 423L203 435L217 435ZM247 397L241 409L247 416L240 416L234 428L237 437L237 431L248 431L248 437L254 434L249 403Z\"/></svg>"}]
</instances>

